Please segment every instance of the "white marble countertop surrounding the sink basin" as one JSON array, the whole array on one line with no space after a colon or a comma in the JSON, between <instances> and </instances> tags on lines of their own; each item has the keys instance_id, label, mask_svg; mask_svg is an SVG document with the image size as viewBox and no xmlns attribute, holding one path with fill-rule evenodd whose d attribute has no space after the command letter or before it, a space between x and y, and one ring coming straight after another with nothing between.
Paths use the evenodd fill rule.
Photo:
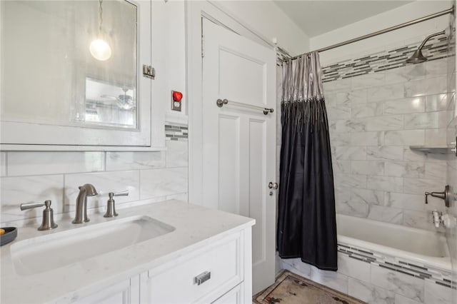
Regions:
<instances>
[{"instance_id":1,"label":"white marble countertop surrounding the sink basin","mask_svg":"<svg viewBox=\"0 0 457 304\"><path fill-rule=\"evenodd\" d=\"M118 213L118 217L109 219L104 218L103 214L92 214L89 216L89 223L80 225L71 224L69 218L60 221L59 227L55 230L38 231L35 226L19 228L18 238L0 248L0 302L24 304L58 300L59 303L71 303L78 298L96 293L103 285L111 285L122 278L139 275L255 223L252 218L174 200L121 209ZM14 243L138 215L150 216L176 229L171 233L111 253L43 273L18 275L14 269L10 250ZM36 260L36 263L40 261Z\"/></svg>"}]
</instances>

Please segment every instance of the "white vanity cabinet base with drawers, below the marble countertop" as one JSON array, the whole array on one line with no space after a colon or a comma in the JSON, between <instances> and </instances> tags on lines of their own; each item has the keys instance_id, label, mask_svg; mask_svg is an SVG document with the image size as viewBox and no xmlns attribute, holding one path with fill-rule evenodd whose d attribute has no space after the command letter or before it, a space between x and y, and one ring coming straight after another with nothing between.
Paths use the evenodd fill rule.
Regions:
<instances>
[{"instance_id":1,"label":"white vanity cabinet base with drawers, below the marble countertop","mask_svg":"<svg viewBox=\"0 0 457 304\"><path fill-rule=\"evenodd\" d=\"M251 303L251 227L193 245L163 265L74 303ZM197 278L202 278L199 284Z\"/></svg>"}]
</instances>

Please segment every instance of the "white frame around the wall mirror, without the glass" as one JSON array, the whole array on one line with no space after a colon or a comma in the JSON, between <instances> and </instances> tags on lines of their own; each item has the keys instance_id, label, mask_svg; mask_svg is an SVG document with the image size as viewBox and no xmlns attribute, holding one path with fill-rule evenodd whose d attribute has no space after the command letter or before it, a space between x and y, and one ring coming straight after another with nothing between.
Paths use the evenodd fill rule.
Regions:
<instances>
[{"instance_id":1,"label":"white frame around the wall mirror, without the glass","mask_svg":"<svg viewBox=\"0 0 457 304\"><path fill-rule=\"evenodd\" d=\"M2 151L151 151L163 148L163 136L154 138L159 133L155 128L161 128L163 133L164 125L160 119L160 113L153 115L151 112L152 80L143 76L143 65L150 66L152 60L151 0L125 1L137 7L139 128L121 130L97 126L59 126L27 121L0 121Z\"/></svg>"}]
</instances>

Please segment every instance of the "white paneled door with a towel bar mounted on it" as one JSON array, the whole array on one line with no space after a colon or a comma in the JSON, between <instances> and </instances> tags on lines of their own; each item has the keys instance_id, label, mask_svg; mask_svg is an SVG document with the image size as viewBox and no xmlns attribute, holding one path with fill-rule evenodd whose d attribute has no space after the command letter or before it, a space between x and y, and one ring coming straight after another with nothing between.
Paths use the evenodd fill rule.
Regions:
<instances>
[{"instance_id":1,"label":"white paneled door with a towel bar mounted on it","mask_svg":"<svg viewBox=\"0 0 457 304\"><path fill-rule=\"evenodd\" d=\"M274 282L276 54L204 19L203 204L256 219L252 230L253 293ZM227 99L219 108L216 100Z\"/></svg>"}]
</instances>

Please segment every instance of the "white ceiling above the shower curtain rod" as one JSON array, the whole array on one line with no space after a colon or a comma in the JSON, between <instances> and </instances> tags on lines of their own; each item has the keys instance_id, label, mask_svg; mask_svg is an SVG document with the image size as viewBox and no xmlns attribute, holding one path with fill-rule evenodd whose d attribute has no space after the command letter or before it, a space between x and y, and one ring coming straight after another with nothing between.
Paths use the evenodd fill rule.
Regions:
<instances>
[{"instance_id":1,"label":"white ceiling above the shower curtain rod","mask_svg":"<svg viewBox=\"0 0 457 304\"><path fill-rule=\"evenodd\" d=\"M413 2L273 0L310 38Z\"/></svg>"}]
</instances>

